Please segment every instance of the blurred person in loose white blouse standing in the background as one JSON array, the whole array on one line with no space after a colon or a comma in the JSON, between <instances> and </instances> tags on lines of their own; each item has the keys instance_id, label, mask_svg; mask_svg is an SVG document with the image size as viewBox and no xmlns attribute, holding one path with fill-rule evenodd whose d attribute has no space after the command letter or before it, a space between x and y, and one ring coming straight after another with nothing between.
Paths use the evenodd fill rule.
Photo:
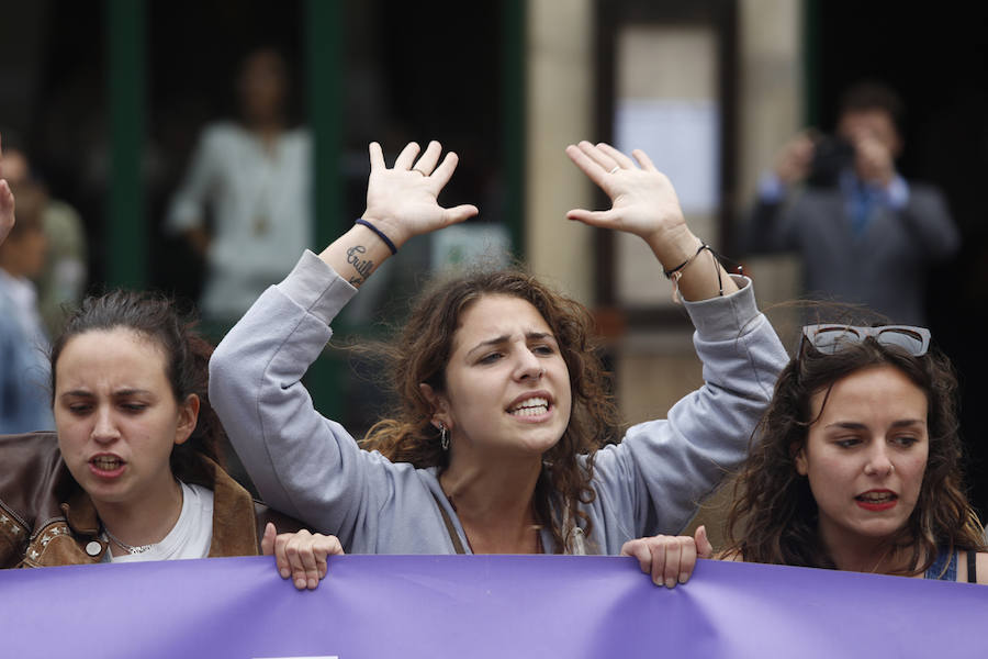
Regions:
<instances>
[{"instance_id":1,"label":"blurred person in loose white blouse standing in the background","mask_svg":"<svg viewBox=\"0 0 988 659\"><path fill-rule=\"evenodd\" d=\"M203 131L168 209L165 231L183 235L206 261L200 306L221 328L280 280L310 242L311 137L290 126L289 90L278 51L249 53L236 82L239 121Z\"/></svg>"}]
</instances>

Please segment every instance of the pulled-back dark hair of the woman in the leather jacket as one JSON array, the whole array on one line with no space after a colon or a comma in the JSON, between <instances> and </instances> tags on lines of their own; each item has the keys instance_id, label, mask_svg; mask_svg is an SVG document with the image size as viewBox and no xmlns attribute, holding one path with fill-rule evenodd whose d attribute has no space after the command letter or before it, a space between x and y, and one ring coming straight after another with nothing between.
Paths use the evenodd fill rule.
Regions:
<instances>
[{"instance_id":1,"label":"pulled-back dark hair of the woman in the leather jacket","mask_svg":"<svg viewBox=\"0 0 988 659\"><path fill-rule=\"evenodd\" d=\"M190 394L199 396L199 418L187 442L171 450L171 471L182 480L212 482L195 454L221 462L218 444L223 425L210 405L210 356L213 346L194 330L194 322L180 313L173 301L155 293L116 290L88 297L72 312L61 335L52 346L52 395L55 394L55 366L65 346L87 332L124 328L146 337L165 355L165 376L178 403Z\"/></svg>"}]
</instances>

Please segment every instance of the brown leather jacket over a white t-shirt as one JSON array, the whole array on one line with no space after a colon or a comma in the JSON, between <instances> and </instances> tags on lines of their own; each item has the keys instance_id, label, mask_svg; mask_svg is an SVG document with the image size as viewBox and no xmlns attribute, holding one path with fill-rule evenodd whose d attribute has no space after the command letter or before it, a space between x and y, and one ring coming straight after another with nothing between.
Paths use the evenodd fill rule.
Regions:
<instances>
[{"instance_id":1,"label":"brown leather jacket over a white t-shirt","mask_svg":"<svg viewBox=\"0 0 988 659\"><path fill-rule=\"evenodd\" d=\"M192 482L213 491L211 557L260 554L268 522L279 533L302 527L202 459L212 482ZM0 435L0 568L94 563L106 548L96 507L66 468L55 433Z\"/></svg>"}]
</instances>

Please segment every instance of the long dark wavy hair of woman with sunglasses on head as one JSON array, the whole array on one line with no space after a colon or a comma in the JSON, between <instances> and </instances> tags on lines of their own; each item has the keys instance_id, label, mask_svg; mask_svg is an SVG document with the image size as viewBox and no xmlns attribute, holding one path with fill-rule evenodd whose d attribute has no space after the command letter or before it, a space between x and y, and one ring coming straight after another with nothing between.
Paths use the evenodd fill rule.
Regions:
<instances>
[{"instance_id":1,"label":"long dark wavy hair of woman with sunglasses on head","mask_svg":"<svg viewBox=\"0 0 988 659\"><path fill-rule=\"evenodd\" d=\"M757 444L734 484L728 552L751 562L833 568L817 529L817 503L796 455L806 446L815 393L861 369L891 366L927 394L930 451L916 509L892 538L911 549L909 573L927 570L938 551L983 549L983 529L964 493L956 409L957 379L939 350L913 357L874 338L835 354L804 349L783 369L754 437ZM922 565L921 565L922 563Z\"/></svg>"}]
</instances>

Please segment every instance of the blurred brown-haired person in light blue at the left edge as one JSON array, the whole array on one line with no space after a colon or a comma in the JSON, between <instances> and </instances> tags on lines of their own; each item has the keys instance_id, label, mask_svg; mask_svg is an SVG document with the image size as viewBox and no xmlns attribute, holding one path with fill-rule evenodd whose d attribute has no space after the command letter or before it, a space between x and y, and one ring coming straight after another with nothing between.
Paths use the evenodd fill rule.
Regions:
<instances>
[{"instance_id":1,"label":"blurred brown-haired person in light blue at the left edge","mask_svg":"<svg viewBox=\"0 0 988 659\"><path fill-rule=\"evenodd\" d=\"M31 281L45 266L47 198L44 189L31 182L10 186L10 190L20 200L20 221L4 224L9 234L0 244L0 434L54 425L46 392L48 335Z\"/></svg>"}]
</instances>

